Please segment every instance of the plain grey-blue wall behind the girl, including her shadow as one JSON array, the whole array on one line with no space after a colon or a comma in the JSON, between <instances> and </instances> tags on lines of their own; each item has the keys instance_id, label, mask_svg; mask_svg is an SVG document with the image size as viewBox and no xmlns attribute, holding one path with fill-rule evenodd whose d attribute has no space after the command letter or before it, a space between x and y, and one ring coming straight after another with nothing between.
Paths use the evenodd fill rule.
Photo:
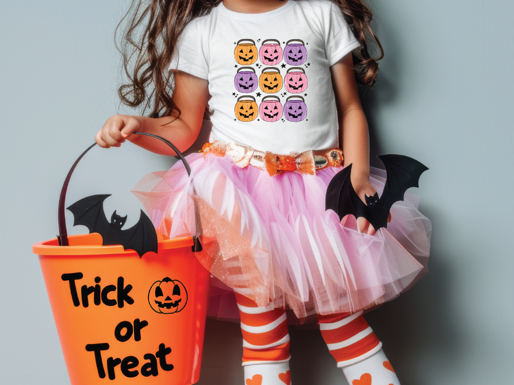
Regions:
<instances>
[{"instance_id":1,"label":"plain grey-blue wall behind the girl, including her shadow","mask_svg":"<svg viewBox=\"0 0 514 385\"><path fill-rule=\"evenodd\" d=\"M121 5L0 3L3 384L69 384L31 244L57 234L66 172L117 111L112 33ZM374 0L374 7L386 57L377 86L363 95L372 152L430 167L418 192L433 237L430 273L366 317L402 384L510 383L514 3ZM131 225L140 205L128 191L170 164L132 144L95 148L78 166L68 202L111 191L116 199L106 209L128 214ZM345 383L319 331L290 333L295 385ZM241 352L238 325L209 320L199 383L242 384Z\"/></svg>"}]
</instances>

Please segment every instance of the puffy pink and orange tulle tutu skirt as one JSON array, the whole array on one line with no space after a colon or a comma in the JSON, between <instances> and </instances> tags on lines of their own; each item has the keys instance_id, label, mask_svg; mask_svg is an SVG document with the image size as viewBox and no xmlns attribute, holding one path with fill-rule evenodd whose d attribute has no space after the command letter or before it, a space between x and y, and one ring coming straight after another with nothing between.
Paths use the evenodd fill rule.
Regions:
<instances>
[{"instance_id":1,"label":"puffy pink and orange tulle tutu skirt","mask_svg":"<svg viewBox=\"0 0 514 385\"><path fill-rule=\"evenodd\" d=\"M218 296L210 314L224 317L212 306L223 307L229 291L298 318L355 313L397 297L427 272L431 223L415 195L395 203L387 229L370 236L358 232L354 217L341 224L325 211L326 188L341 168L270 177L228 157L186 159L191 177L177 162L145 176L133 192L157 232L199 237L203 251L196 256L214 277L211 296ZM370 181L380 195L383 173Z\"/></svg>"}]
</instances>

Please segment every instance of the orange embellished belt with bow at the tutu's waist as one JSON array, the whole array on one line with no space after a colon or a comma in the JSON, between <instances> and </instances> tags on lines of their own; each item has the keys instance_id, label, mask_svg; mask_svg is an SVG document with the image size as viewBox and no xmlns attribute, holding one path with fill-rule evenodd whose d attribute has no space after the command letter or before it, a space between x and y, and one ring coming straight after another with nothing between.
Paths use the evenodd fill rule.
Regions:
<instances>
[{"instance_id":1,"label":"orange embellished belt with bow at the tutu's waist","mask_svg":"<svg viewBox=\"0 0 514 385\"><path fill-rule=\"evenodd\" d=\"M340 167L344 164L343 151L339 148L326 150L308 150L302 153L291 152L280 155L269 151L259 151L250 146L235 142L214 142L204 144L201 149L204 157L212 153L218 157L229 157L235 165L244 168L248 165L266 170L270 176L282 171L315 175L317 170L326 167Z\"/></svg>"}]
</instances>

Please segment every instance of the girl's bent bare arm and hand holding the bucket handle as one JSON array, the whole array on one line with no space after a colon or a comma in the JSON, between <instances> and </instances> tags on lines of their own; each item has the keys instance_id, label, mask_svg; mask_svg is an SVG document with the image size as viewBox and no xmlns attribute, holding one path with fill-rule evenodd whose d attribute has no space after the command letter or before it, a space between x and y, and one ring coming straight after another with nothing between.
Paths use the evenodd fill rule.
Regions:
<instances>
[{"instance_id":1,"label":"girl's bent bare arm and hand holding the bucket handle","mask_svg":"<svg viewBox=\"0 0 514 385\"><path fill-rule=\"evenodd\" d=\"M125 140L161 155L176 155L166 144L155 138L132 135L134 131L158 135L172 142L179 151L194 143L200 132L204 111L209 100L209 82L185 72L175 72L173 101L180 109L172 116L146 118L142 116L114 115L107 119L95 140L100 147L119 147ZM178 116L178 118L177 118Z\"/></svg>"}]
</instances>

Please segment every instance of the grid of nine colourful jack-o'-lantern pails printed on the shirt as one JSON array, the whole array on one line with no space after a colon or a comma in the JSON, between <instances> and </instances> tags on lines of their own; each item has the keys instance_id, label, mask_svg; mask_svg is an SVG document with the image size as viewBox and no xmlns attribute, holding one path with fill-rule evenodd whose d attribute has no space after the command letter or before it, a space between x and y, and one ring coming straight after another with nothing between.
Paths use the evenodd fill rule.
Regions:
<instances>
[{"instance_id":1,"label":"grid of nine colourful jack-o'-lantern pails printed on the shirt","mask_svg":"<svg viewBox=\"0 0 514 385\"><path fill-rule=\"evenodd\" d=\"M260 44L259 50L256 44ZM310 63L306 62L307 44L299 39L292 39L287 43L286 39L283 42L266 39L261 43L260 38L245 38L237 43L234 41L234 57L237 62L234 66L237 68L234 77L236 92L232 92L233 97L237 99L234 121L308 121L304 99L307 96L305 68L310 66ZM261 69L260 75L256 69ZM285 71L284 75L281 74L281 70ZM240 96L241 93L245 95ZM260 98L262 100L259 100ZM285 103L281 98L286 99Z\"/></svg>"}]
</instances>

